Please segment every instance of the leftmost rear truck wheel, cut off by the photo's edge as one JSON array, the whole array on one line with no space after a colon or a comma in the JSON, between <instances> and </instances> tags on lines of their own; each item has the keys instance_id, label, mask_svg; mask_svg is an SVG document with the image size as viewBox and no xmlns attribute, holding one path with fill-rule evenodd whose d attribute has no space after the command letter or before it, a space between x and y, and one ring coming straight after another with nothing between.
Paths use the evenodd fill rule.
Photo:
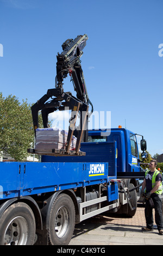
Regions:
<instances>
[{"instance_id":1,"label":"leftmost rear truck wheel, cut off by the photo's edge","mask_svg":"<svg viewBox=\"0 0 163 256\"><path fill-rule=\"evenodd\" d=\"M33 245L35 217L30 207L22 202L9 206L1 216L0 245Z\"/></svg>"}]
</instances>

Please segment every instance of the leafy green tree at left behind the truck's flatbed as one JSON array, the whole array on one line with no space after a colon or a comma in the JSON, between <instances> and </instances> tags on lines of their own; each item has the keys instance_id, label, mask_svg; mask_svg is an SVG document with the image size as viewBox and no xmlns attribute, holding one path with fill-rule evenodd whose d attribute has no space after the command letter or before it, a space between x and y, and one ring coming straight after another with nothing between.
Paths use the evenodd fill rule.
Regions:
<instances>
[{"instance_id":1,"label":"leafy green tree at left behind the truck's flatbed","mask_svg":"<svg viewBox=\"0 0 163 256\"><path fill-rule=\"evenodd\" d=\"M0 151L22 161L33 144L33 121L27 100L20 103L16 96L4 98L0 93Z\"/></svg>"}]
</instances>

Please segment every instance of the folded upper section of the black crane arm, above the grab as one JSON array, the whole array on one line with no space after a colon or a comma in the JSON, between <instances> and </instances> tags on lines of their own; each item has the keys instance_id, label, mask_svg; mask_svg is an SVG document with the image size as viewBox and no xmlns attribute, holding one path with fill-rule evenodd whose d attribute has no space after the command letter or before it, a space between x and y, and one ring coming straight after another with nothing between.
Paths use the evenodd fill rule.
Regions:
<instances>
[{"instance_id":1,"label":"folded upper section of the black crane arm, above the grab","mask_svg":"<svg viewBox=\"0 0 163 256\"><path fill-rule=\"evenodd\" d=\"M69 73L72 75L77 98L85 103L91 104L87 94L82 66L80 64L80 57L83 55L83 48L86 45L87 39L88 36L86 34L78 35L76 39L67 39L64 44L62 44L63 52L61 54L58 53L57 56L57 79L55 80L55 87L62 87L62 81Z\"/></svg>"}]
</instances>

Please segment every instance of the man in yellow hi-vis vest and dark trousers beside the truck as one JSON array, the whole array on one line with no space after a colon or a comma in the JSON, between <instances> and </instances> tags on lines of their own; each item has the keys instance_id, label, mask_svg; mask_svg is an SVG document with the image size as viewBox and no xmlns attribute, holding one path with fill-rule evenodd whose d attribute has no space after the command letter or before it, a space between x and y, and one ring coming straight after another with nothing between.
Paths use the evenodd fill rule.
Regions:
<instances>
[{"instance_id":1,"label":"man in yellow hi-vis vest and dark trousers beside the truck","mask_svg":"<svg viewBox=\"0 0 163 256\"><path fill-rule=\"evenodd\" d=\"M149 170L145 173L145 178L142 183L142 192L146 188L146 206L145 217L146 227L142 227L143 231L153 230L153 209L151 207L150 198L153 200L155 209L155 223L158 227L159 234L163 235L163 220L162 220L162 175L156 169L157 161L152 160L149 164Z\"/></svg>"}]
</instances>

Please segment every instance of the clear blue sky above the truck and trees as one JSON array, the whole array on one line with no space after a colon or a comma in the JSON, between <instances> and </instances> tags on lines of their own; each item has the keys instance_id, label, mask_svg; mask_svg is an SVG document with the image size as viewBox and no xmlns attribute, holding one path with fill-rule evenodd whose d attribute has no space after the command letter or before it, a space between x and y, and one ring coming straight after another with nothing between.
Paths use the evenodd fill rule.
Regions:
<instances>
[{"instance_id":1,"label":"clear blue sky above the truck and trees","mask_svg":"<svg viewBox=\"0 0 163 256\"><path fill-rule=\"evenodd\" d=\"M111 111L112 128L142 134L149 153L162 154L162 9L162 0L0 0L0 91L36 102L54 88L62 42L86 33L95 111ZM64 90L76 95L70 78Z\"/></svg>"}]
</instances>

